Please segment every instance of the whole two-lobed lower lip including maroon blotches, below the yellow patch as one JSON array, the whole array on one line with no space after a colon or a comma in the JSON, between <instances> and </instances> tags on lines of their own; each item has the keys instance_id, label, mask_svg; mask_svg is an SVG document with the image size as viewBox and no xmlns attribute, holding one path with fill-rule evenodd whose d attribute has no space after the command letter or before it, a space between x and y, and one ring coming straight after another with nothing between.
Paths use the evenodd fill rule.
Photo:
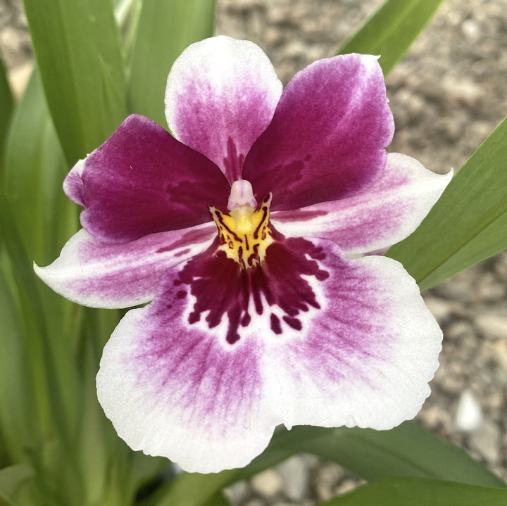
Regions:
<instances>
[{"instance_id":1,"label":"whole two-lobed lower lip including maroon blotches, below the yellow patch","mask_svg":"<svg viewBox=\"0 0 507 506\"><path fill-rule=\"evenodd\" d=\"M415 415L442 332L399 263L275 234L242 271L217 244L164 274L104 348L99 401L128 445L218 472L281 422L387 429Z\"/></svg>"}]
</instances>

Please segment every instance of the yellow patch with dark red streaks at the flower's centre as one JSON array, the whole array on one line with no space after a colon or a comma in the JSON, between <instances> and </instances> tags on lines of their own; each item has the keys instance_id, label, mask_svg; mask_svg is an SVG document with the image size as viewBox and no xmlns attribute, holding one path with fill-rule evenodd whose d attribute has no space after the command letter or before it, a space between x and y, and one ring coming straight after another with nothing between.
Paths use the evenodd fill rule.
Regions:
<instances>
[{"instance_id":1,"label":"yellow patch with dark red streaks at the flower's centre","mask_svg":"<svg viewBox=\"0 0 507 506\"><path fill-rule=\"evenodd\" d=\"M265 198L258 208L240 207L222 213L211 208L211 215L218 228L219 248L228 258L235 260L242 269L259 265L265 251L273 242L269 227L271 196Z\"/></svg>"}]
</instances>

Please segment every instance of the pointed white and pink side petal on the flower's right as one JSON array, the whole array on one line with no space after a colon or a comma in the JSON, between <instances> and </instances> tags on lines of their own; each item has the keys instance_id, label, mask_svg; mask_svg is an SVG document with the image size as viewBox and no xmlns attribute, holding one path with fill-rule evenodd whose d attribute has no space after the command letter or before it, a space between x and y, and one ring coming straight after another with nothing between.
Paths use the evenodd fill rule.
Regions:
<instances>
[{"instance_id":1,"label":"pointed white and pink side petal on the flower's right","mask_svg":"<svg viewBox=\"0 0 507 506\"><path fill-rule=\"evenodd\" d=\"M434 174L409 156L389 153L382 179L361 194L271 217L283 234L332 239L349 254L384 250L419 226L452 174Z\"/></svg>"}]
</instances>

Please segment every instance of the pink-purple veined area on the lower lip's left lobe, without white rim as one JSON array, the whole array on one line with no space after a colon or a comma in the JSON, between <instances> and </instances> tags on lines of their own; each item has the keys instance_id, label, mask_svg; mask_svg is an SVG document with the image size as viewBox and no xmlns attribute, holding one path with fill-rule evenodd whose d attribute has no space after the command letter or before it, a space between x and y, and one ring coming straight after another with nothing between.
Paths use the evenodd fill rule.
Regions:
<instances>
[{"instance_id":1,"label":"pink-purple veined area on the lower lip's left lobe, without white rim","mask_svg":"<svg viewBox=\"0 0 507 506\"><path fill-rule=\"evenodd\" d=\"M245 405L256 403L261 383L256 350L262 345L245 343L228 353L212 336L181 327L187 291L174 293L170 281L171 277L165 279L156 300L146 308L144 335L134 350L138 381L152 395L189 410L192 425L206 426L217 413L224 420L234 419ZM132 367L132 357L125 358L125 367ZM223 425L225 431L227 423Z\"/></svg>"}]
</instances>

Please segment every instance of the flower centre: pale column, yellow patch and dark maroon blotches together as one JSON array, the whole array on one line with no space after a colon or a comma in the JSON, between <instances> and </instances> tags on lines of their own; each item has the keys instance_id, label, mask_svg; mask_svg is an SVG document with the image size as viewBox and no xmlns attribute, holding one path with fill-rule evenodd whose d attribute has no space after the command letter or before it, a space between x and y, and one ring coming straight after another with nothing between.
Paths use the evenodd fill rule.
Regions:
<instances>
[{"instance_id":1,"label":"flower centre: pale column, yellow patch and dark maroon blotches together","mask_svg":"<svg viewBox=\"0 0 507 506\"><path fill-rule=\"evenodd\" d=\"M240 194L239 186L246 191ZM210 209L218 229L215 243L191 260L175 281L178 286L189 285L194 298L188 323L197 324L207 313L205 322L213 329L225 316L225 341L230 345L259 327L269 328L270 336L294 336L303 329L310 310L321 308L312 282L323 282L329 275L318 265L325 256L322 248L276 232L270 224L271 201L269 194L254 207L251 184L234 182L230 212ZM177 297L186 298L187 293L180 289ZM258 324L252 324L252 317ZM221 333L216 337L223 339Z\"/></svg>"}]
</instances>

